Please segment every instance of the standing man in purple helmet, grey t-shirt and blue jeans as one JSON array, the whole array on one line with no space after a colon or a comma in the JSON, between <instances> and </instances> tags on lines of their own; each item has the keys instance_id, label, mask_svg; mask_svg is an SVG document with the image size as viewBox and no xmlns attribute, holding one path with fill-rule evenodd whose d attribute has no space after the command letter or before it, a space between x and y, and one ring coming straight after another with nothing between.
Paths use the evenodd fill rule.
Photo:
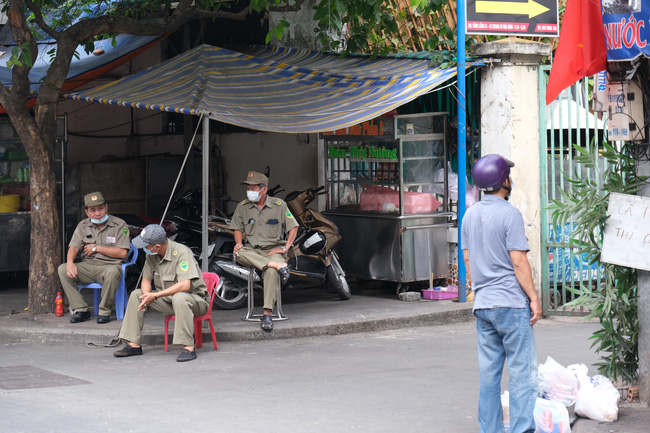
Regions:
<instances>
[{"instance_id":1,"label":"standing man in purple helmet, grey t-shirt and blue jeans","mask_svg":"<svg viewBox=\"0 0 650 433\"><path fill-rule=\"evenodd\" d=\"M467 277L476 296L481 433L503 431L501 375L508 359L510 431L535 431L537 353L533 325L542 315L533 283L521 212L507 202L512 191L510 168L500 155L485 155L472 176L484 192L467 210L461 227L461 247Z\"/></svg>"}]
</instances>

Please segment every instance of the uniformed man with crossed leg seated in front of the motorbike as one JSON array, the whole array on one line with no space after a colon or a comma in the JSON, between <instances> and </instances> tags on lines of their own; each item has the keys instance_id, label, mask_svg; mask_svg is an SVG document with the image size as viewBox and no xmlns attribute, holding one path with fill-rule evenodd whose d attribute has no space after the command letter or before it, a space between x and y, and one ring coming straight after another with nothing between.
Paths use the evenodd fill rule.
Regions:
<instances>
[{"instance_id":1,"label":"uniformed man with crossed leg seated in front of the motorbike","mask_svg":"<svg viewBox=\"0 0 650 433\"><path fill-rule=\"evenodd\" d=\"M262 173L249 171L241 184L246 185L247 199L237 205L230 223L230 228L235 231L233 253L242 265L262 271L262 329L271 331L271 313L280 284L284 285L289 279L286 252L296 239L298 223L284 201L267 196L269 179ZM288 232L286 240L284 232Z\"/></svg>"}]
</instances>

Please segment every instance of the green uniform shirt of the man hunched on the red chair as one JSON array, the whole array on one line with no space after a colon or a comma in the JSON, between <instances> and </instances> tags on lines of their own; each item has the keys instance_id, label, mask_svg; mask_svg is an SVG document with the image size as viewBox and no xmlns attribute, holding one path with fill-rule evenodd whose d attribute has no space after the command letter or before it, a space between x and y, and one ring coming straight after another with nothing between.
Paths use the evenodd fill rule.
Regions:
<instances>
[{"instance_id":1,"label":"green uniform shirt of the man hunched on the red chair","mask_svg":"<svg viewBox=\"0 0 650 433\"><path fill-rule=\"evenodd\" d=\"M147 254L142 278L152 282L154 291L165 290L180 281L191 280L189 293L201 295L206 301L209 300L208 288L192 250L172 240L167 240L165 257Z\"/></svg>"}]
</instances>

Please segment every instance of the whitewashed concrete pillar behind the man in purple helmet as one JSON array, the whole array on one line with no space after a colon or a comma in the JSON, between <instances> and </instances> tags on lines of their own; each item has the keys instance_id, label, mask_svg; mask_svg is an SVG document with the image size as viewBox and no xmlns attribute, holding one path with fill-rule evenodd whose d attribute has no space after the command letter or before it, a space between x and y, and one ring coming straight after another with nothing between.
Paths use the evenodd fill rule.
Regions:
<instances>
[{"instance_id":1,"label":"whitewashed concrete pillar behind the man in purple helmet","mask_svg":"<svg viewBox=\"0 0 650 433\"><path fill-rule=\"evenodd\" d=\"M481 71L481 153L515 163L510 202L524 217L535 287L541 273L541 180L538 67L551 46L508 38L472 46L472 55L493 62Z\"/></svg>"}]
</instances>

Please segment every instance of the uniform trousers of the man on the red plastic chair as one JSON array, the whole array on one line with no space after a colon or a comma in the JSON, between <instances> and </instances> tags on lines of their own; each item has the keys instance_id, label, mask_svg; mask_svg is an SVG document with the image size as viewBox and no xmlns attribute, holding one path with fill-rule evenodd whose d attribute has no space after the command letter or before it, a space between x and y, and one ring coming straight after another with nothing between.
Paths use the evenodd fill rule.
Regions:
<instances>
[{"instance_id":1,"label":"uniform trousers of the man on the red plastic chair","mask_svg":"<svg viewBox=\"0 0 650 433\"><path fill-rule=\"evenodd\" d=\"M176 316L173 344L194 346L194 316L201 316L208 312L208 302L201 295L187 292L174 293L172 296L160 297L147 308L138 311L138 305L142 302L140 296L142 296L142 289L134 290L129 296L120 329L121 339L140 345L144 316L148 310L151 310L165 316Z\"/></svg>"}]
</instances>

